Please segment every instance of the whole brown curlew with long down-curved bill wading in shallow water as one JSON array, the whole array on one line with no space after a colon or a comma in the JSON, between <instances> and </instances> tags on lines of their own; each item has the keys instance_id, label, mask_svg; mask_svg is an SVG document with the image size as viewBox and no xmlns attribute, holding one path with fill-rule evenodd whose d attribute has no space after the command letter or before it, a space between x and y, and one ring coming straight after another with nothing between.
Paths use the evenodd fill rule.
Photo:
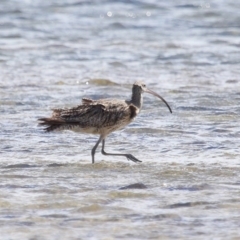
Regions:
<instances>
[{"instance_id":1,"label":"whole brown curlew with long down-curved bill wading in shallow water","mask_svg":"<svg viewBox=\"0 0 240 240\"><path fill-rule=\"evenodd\" d=\"M45 126L46 132L72 130L99 135L99 139L91 151L92 163L95 162L95 152L100 143L102 143L101 152L103 155L124 156L130 161L141 162L132 154L107 153L104 148L105 139L110 133L124 128L139 114L143 105L144 92L161 99L172 113L171 107L163 97L148 89L143 82L137 81L132 86L130 100L83 98L82 104L76 107L53 109L51 117L38 119L39 125Z\"/></svg>"}]
</instances>

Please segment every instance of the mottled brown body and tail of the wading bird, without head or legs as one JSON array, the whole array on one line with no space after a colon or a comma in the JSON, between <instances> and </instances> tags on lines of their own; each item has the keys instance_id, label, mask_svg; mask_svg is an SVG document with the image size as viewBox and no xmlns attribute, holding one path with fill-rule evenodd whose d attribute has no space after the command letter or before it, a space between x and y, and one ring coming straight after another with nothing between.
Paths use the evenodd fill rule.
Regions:
<instances>
[{"instance_id":1,"label":"mottled brown body and tail of the wading bird, without head or legs","mask_svg":"<svg viewBox=\"0 0 240 240\"><path fill-rule=\"evenodd\" d=\"M129 124L138 109L124 100L84 98L82 104L70 109L54 109L51 118L41 118L47 131L75 130L107 135Z\"/></svg>"}]
</instances>

